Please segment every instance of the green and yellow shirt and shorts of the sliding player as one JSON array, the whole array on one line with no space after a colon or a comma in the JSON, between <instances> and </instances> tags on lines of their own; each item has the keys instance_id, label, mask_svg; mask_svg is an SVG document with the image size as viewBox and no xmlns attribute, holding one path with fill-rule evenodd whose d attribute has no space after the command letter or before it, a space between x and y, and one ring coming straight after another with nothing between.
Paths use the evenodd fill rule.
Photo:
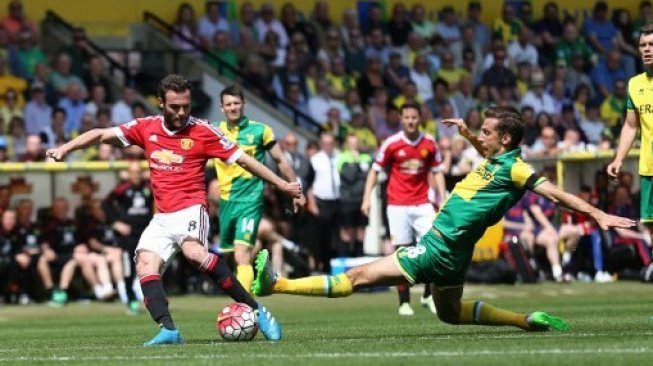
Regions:
<instances>
[{"instance_id":1,"label":"green and yellow shirt and shorts of the sliding player","mask_svg":"<svg viewBox=\"0 0 653 366\"><path fill-rule=\"evenodd\" d=\"M527 189L544 182L514 149L486 159L456 184L419 244L400 248L395 259L411 283L460 286L475 243L501 220Z\"/></svg>"}]
</instances>

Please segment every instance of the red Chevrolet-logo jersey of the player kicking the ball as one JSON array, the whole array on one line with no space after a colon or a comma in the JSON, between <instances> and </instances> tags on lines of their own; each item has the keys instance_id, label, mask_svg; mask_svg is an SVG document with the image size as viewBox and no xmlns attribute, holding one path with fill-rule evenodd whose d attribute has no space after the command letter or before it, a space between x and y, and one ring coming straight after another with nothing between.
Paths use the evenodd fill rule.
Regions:
<instances>
[{"instance_id":1,"label":"red Chevrolet-logo jersey of the player kicking the ball","mask_svg":"<svg viewBox=\"0 0 653 366\"><path fill-rule=\"evenodd\" d=\"M145 149L154 203L163 213L206 205L206 161L219 158L233 163L243 153L220 129L193 117L178 131L168 130L163 116L138 118L114 131L124 146Z\"/></svg>"}]
</instances>

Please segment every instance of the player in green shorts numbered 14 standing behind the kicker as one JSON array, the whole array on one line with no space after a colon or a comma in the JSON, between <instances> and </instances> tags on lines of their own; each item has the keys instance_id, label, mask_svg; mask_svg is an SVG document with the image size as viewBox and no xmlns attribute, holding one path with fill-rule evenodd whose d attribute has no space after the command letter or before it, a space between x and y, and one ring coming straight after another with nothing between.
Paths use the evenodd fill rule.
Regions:
<instances>
[{"instance_id":1,"label":"player in green shorts numbered 14 standing behind the kicker","mask_svg":"<svg viewBox=\"0 0 653 366\"><path fill-rule=\"evenodd\" d=\"M261 163L265 162L265 153L269 153L283 177L290 182L296 181L295 172L277 145L272 128L245 116L242 88L238 85L224 88L220 102L227 120L217 126L229 139ZM234 253L236 278L249 290L254 279L252 248L263 215L263 180L237 164L228 165L219 159L214 161L220 185L220 249ZM295 199L295 211L305 202L303 195Z\"/></svg>"}]
</instances>

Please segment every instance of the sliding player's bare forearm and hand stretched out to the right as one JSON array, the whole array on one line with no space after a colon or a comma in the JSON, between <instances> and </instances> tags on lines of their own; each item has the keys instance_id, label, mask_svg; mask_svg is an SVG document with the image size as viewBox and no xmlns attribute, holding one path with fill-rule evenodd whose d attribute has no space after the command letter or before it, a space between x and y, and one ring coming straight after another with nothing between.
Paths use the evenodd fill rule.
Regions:
<instances>
[{"instance_id":1,"label":"sliding player's bare forearm and hand stretched out to the right","mask_svg":"<svg viewBox=\"0 0 653 366\"><path fill-rule=\"evenodd\" d=\"M541 183L533 191L563 207L589 215L603 230L611 227L629 228L637 224L634 220L625 217L608 215L573 194L558 189L550 182Z\"/></svg>"}]
</instances>

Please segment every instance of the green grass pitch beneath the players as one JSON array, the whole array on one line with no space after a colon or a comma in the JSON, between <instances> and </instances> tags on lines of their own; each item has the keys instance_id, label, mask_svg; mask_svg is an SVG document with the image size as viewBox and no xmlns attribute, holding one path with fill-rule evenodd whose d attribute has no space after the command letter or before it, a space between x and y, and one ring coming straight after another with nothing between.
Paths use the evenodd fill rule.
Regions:
<instances>
[{"instance_id":1,"label":"green grass pitch beneath the players","mask_svg":"<svg viewBox=\"0 0 653 366\"><path fill-rule=\"evenodd\" d=\"M226 297L173 297L186 344L143 349L156 333L147 313L119 304L0 308L0 364L76 365L642 365L653 356L653 287L639 283L468 286L465 298L508 309L543 310L569 321L566 333L451 326L419 308L396 313L394 291L347 299L263 299L284 339L235 343L215 333Z\"/></svg>"}]
</instances>

